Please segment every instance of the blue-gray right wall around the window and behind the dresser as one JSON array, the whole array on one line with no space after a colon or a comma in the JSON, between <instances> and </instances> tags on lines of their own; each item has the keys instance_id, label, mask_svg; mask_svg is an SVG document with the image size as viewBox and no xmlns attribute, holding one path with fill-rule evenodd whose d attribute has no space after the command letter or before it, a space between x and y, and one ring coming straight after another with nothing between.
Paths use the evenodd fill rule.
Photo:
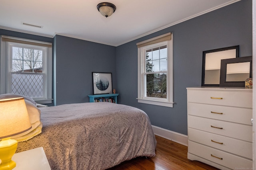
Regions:
<instances>
[{"instance_id":1,"label":"blue-gray right wall around the window and behind the dresser","mask_svg":"<svg viewBox=\"0 0 256 170\"><path fill-rule=\"evenodd\" d=\"M136 43L173 32L174 107L137 102ZM116 48L118 102L144 110L158 127L187 135L186 88L201 86L202 51L240 45L252 55L252 1L242 0Z\"/></svg>"}]
</instances>

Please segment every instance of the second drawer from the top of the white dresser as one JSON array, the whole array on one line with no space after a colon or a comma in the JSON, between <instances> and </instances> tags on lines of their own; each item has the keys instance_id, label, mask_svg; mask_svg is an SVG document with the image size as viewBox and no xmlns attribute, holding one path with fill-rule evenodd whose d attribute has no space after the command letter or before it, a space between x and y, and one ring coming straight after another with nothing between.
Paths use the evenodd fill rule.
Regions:
<instances>
[{"instance_id":1,"label":"second drawer from the top of the white dresser","mask_svg":"<svg viewBox=\"0 0 256 170\"><path fill-rule=\"evenodd\" d=\"M188 102L188 114L252 125L252 109Z\"/></svg>"}]
</instances>

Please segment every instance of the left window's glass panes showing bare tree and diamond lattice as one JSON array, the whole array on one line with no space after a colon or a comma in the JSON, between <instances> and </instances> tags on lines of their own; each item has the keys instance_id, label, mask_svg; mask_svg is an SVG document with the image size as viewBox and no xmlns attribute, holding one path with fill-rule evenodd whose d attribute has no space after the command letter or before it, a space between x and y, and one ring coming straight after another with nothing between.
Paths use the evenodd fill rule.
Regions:
<instances>
[{"instance_id":1,"label":"left window's glass panes showing bare tree and diamond lattice","mask_svg":"<svg viewBox=\"0 0 256 170\"><path fill-rule=\"evenodd\" d=\"M12 47L11 93L34 98L44 94L43 51Z\"/></svg>"}]
</instances>

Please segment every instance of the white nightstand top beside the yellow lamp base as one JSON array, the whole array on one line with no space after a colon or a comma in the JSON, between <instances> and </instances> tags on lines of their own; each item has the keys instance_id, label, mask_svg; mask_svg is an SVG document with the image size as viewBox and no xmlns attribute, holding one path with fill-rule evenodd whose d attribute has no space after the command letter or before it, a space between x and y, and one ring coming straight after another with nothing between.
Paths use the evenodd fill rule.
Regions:
<instances>
[{"instance_id":1,"label":"white nightstand top beside the yellow lamp base","mask_svg":"<svg viewBox=\"0 0 256 170\"><path fill-rule=\"evenodd\" d=\"M13 170L51 170L43 147L16 153L12 160L16 162Z\"/></svg>"}]
</instances>

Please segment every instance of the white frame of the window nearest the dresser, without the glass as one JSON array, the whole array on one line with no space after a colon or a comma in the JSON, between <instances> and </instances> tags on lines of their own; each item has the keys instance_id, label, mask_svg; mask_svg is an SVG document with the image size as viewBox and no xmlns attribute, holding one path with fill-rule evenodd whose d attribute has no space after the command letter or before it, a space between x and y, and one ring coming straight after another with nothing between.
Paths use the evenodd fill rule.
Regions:
<instances>
[{"instance_id":1,"label":"white frame of the window nearest the dresser, without the glass","mask_svg":"<svg viewBox=\"0 0 256 170\"><path fill-rule=\"evenodd\" d=\"M158 37L148 39L146 41L154 41L155 39L159 39L163 35ZM171 39L168 41L162 41L150 45L146 45L144 47L138 48L138 102L144 104L152 104L158 106L166 106L173 107L173 37L171 33ZM145 43L145 41L144 41ZM167 45L167 72L166 72L166 98L153 98L146 97L146 82L144 81L146 78L146 50L153 49L155 47L161 47Z\"/></svg>"}]
</instances>

